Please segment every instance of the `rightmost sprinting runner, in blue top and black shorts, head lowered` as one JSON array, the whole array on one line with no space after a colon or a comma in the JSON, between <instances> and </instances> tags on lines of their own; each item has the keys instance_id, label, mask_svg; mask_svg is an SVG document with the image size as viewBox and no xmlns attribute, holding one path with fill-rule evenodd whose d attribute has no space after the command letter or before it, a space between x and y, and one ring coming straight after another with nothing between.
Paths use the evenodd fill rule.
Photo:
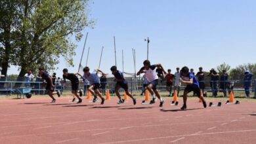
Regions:
<instances>
[{"instance_id":1,"label":"rightmost sprinting runner, in blue top and black shorts, head lowered","mask_svg":"<svg viewBox=\"0 0 256 144\"><path fill-rule=\"evenodd\" d=\"M181 107L182 110L186 109L186 99L188 97L188 93L195 92L196 96L203 101L203 107L207 107L205 99L203 99L201 95L201 90L199 88L199 83L196 80L196 77L189 72L188 67L182 67L181 69L181 82L186 84L186 88L183 94L183 106Z\"/></svg>"}]
</instances>

